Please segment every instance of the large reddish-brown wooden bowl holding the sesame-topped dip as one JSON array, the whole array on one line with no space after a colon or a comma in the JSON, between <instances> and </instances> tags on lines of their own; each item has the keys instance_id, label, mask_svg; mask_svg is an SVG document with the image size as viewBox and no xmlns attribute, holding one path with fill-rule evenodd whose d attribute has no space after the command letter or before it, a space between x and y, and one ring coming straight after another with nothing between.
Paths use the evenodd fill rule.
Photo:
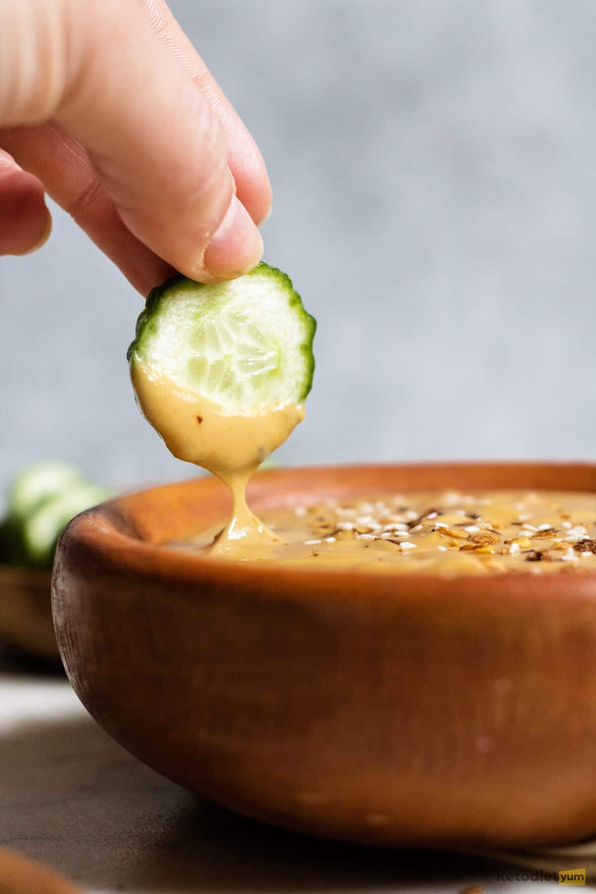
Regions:
<instances>
[{"instance_id":1,"label":"large reddish-brown wooden bowl holding the sesame-topped dip","mask_svg":"<svg viewBox=\"0 0 596 894\"><path fill-rule=\"evenodd\" d=\"M418 489L596 492L596 466L299 468L256 511ZM160 544L223 519L214 478L71 522L66 671L113 738L267 822L441 848L596 832L596 574L440 578L228 563Z\"/></svg>"}]
</instances>

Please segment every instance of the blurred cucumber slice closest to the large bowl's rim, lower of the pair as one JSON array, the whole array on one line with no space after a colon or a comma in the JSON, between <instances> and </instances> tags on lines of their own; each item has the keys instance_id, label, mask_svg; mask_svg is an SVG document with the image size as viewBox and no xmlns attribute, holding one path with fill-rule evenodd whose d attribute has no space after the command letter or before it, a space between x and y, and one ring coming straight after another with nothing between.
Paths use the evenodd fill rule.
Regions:
<instances>
[{"instance_id":1,"label":"blurred cucumber slice closest to the large bowl's rim, lower of the pair","mask_svg":"<svg viewBox=\"0 0 596 894\"><path fill-rule=\"evenodd\" d=\"M55 546L63 528L83 510L109 499L104 487L82 482L44 502L22 523L21 536L25 563L32 568L52 567Z\"/></svg>"}]
</instances>

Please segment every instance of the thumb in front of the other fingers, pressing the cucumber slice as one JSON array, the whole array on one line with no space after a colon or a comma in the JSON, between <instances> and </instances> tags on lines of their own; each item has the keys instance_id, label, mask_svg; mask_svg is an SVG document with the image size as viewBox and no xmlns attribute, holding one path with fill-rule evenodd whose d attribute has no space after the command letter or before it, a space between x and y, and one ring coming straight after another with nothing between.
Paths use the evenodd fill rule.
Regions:
<instances>
[{"instance_id":1,"label":"thumb in front of the other fingers, pressing the cucumber slice","mask_svg":"<svg viewBox=\"0 0 596 894\"><path fill-rule=\"evenodd\" d=\"M122 221L192 279L245 273L263 242L235 195L219 119L139 4L3 4L0 127L55 119Z\"/></svg>"}]
</instances>

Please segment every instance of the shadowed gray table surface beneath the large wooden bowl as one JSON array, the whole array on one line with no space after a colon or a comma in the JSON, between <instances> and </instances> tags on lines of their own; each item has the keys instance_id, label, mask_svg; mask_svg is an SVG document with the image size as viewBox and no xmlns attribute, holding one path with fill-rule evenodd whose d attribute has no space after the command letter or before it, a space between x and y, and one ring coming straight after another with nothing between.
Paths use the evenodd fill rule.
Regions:
<instances>
[{"instance_id":1,"label":"shadowed gray table surface beneath the large wooden bowl","mask_svg":"<svg viewBox=\"0 0 596 894\"><path fill-rule=\"evenodd\" d=\"M488 860L357 848L230 814L116 745L63 676L1 654L0 847L46 860L96 894L431 894L473 884L496 894L528 884L499 881L503 866Z\"/></svg>"}]
</instances>

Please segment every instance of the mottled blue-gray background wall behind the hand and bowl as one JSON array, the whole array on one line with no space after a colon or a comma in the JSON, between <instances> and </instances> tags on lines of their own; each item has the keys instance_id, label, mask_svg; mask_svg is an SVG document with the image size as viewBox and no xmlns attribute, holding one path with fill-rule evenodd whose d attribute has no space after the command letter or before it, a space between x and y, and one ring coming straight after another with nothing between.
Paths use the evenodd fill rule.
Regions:
<instances>
[{"instance_id":1,"label":"mottled blue-gray background wall behind the hand and bowl","mask_svg":"<svg viewBox=\"0 0 596 894\"><path fill-rule=\"evenodd\" d=\"M317 316L291 463L585 457L596 333L593 0L172 0L259 142L265 257ZM139 296L61 212L0 262L0 484L194 474L139 417Z\"/></svg>"}]
</instances>

